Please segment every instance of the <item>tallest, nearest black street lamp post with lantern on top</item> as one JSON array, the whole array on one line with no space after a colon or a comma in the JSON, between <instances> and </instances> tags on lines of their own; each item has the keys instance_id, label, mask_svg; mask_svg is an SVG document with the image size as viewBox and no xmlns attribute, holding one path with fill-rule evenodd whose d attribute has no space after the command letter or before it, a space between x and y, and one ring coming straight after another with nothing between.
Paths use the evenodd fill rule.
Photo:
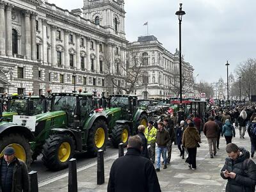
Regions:
<instances>
[{"instance_id":1,"label":"tallest, nearest black street lamp post with lantern on top","mask_svg":"<svg viewBox=\"0 0 256 192\"><path fill-rule=\"evenodd\" d=\"M182 65L181 65L181 21L182 21L182 16L185 15L186 13L182 11L182 3L180 3L180 9L175 13L175 15L178 15L179 17L179 54L180 54L180 103L182 103Z\"/></svg>"}]
</instances>

